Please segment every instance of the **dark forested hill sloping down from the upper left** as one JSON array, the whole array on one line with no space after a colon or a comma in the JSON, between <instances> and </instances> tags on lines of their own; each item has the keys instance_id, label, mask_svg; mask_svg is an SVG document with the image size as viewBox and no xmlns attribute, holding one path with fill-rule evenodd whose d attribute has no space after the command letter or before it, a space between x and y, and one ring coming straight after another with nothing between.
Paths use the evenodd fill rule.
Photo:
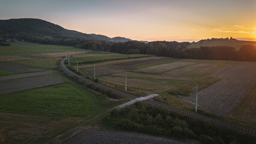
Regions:
<instances>
[{"instance_id":1,"label":"dark forested hill sloping down from the upper left","mask_svg":"<svg viewBox=\"0 0 256 144\"><path fill-rule=\"evenodd\" d=\"M3 38L85 38L87 40L104 40L114 42L129 41L129 38L109 38L105 35L84 34L82 32L64 29L59 25L41 19L9 19L0 20L0 35Z\"/></svg>"}]
</instances>

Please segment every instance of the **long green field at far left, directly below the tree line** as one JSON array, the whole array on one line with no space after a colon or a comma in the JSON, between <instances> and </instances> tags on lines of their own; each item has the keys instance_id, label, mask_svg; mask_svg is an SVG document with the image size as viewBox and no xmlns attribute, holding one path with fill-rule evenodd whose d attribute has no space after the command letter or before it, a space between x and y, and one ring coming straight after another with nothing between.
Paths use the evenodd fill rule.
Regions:
<instances>
[{"instance_id":1,"label":"long green field at far left, directly below the tree line","mask_svg":"<svg viewBox=\"0 0 256 144\"><path fill-rule=\"evenodd\" d=\"M32 55L38 53L59 53L83 51L71 46L58 46L35 43L12 43L11 46L0 46L0 56L4 55Z\"/></svg>"}]
</instances>

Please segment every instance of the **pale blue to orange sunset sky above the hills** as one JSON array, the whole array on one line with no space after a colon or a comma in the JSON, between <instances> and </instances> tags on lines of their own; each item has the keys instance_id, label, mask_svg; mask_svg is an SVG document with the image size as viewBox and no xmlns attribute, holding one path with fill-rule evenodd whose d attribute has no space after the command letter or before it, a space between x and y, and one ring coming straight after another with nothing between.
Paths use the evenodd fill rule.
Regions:
<instances>
[{"instance_id":1,"label":"pale blue to orange sunset sky above the hills","mask_svg":"<svg viewBox=\"0 0 256 144\"><path fill-rule=\"evenodd\" d=\"M256 0L0 0L0 19L16 18L132 40L256 41Z\"/></svg>"}]
</instances>

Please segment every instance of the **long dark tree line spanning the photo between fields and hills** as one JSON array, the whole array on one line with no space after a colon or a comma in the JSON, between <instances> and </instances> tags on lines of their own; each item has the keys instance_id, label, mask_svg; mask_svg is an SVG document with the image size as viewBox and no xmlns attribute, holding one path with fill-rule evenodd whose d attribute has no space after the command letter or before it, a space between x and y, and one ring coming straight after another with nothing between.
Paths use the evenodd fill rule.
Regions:
<instances>
[{"instance_id":1,"label":"long dark tree line spanning the photo between fields and hills","mask_svg":"<svg viewBox=\"0 0 256 144\"><path fill-rule=\"evenodd\" d=\"M112 41L90 40L88 38L53 38L35 37L32 35L15 35L15 38L31 43L75 46L81 49L102 50L123 54L147 54L184 59L256 61L256 46L252 45L242 46L239 50L228 46L201 46L199 48L188 49L189 42L178 43L177 41L153 41L146 44L139 41L114 43Z\"/></svg>"}]
</instances>

